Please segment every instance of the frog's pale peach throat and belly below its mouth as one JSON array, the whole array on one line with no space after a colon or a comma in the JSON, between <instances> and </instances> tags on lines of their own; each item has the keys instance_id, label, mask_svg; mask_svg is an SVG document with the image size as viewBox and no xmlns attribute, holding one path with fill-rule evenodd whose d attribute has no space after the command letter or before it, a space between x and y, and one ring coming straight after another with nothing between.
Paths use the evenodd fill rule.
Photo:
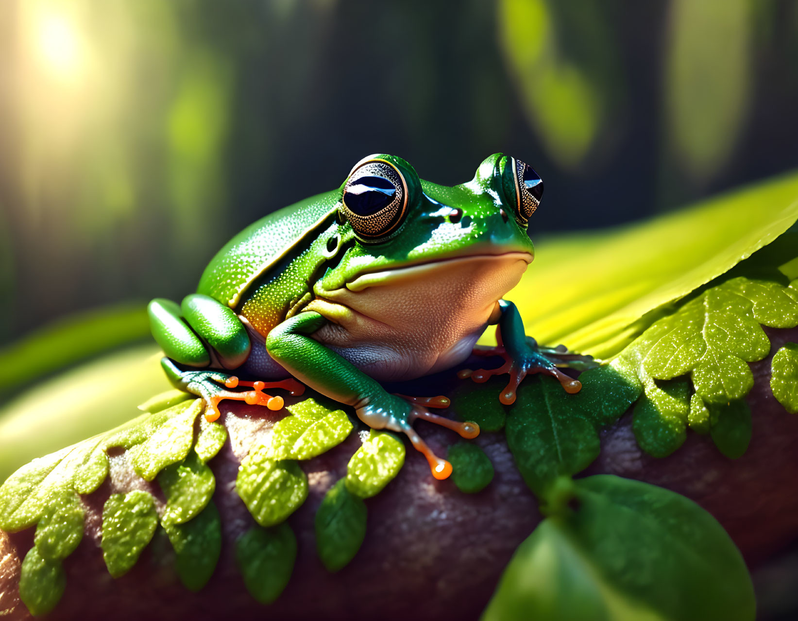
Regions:
<instances>
[{"instance_id":1,"label":"frog's pale peach throat and belly below its mouth","mask_svg":"<svg viewBox=\"0 0 798 621\"><path fill-rule=\"evenodd\" d=\"M519 283L531 255L512 252L365 275L306 309L330 322L313 334L381 382L437 373L463 362L496 300ZM354 289L354 291L352 291Z\"/></svg>"}]
</instances>

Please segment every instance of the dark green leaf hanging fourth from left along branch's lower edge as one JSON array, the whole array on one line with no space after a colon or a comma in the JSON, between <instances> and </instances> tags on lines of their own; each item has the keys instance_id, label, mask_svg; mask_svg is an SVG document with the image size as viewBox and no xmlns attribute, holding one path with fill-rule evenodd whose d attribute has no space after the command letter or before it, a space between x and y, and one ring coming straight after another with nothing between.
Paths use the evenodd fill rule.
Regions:
<instances>
[{"instance_id":1,"label":"dark green leaf hanging fourth from left along branch's lower edge","mask_svg":"<svg viewBox=\"0 0 798 621\"><path fill-rule=\"evenodd\" d=\"M297 540L288 524L248 530L235 542L235 562L250 595L272 603L285 589L297 556Z\"/></svg>"}]
</instances>

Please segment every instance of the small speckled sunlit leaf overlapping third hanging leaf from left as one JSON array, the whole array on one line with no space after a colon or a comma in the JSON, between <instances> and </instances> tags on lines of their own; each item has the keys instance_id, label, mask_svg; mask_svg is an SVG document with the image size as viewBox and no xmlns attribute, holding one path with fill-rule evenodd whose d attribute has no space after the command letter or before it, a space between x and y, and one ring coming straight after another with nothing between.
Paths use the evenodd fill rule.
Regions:
<instances>
[{"instance_id":1,"label":"small speckled sunlit leaf overlapping third hanging leaf from left","mask_svg":"<svg viewBox=\"0 0 798 621\"><path fill-rule=\"evenodd\" d=\"M192 451L180 464L168 465L158 474L158 484L166 496L164 524L184 524L199 515L211 500L216 480L207 465Z\"/></svg>"}]
</instances>

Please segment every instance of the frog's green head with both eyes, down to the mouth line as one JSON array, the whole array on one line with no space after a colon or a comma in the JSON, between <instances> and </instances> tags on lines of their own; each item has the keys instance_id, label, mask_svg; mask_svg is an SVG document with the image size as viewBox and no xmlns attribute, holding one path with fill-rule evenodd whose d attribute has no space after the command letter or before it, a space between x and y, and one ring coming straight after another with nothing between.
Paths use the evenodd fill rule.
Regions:
<instances>
[{"instance_id":1,"label":"frog's green head with both eyes, down to the mouth line","mask_svg":"<svg viewBox=\"0 0 798 621\"><path fill-rule=\"evenodd\" d=\"M543 181L513 157L496 153L472 180L449 188L420 180L401 157L372 155L355 164L340 192L339 238L349 247L327 273L329 287L356 291L398 267L506 256L525 266L534 257L527 223Z\"/></svg>"}]
</instances>

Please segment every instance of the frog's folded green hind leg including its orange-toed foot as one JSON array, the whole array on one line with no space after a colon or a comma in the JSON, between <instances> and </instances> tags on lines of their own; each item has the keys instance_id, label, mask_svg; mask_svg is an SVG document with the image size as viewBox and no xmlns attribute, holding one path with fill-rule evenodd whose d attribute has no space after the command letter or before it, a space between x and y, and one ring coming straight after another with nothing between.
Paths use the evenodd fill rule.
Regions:
<instances>
[{"instance_id":1,"label":"frog's folded green hind leg including its orange-toed foot","mask_svg":"<svg viewBox=\"0 0 798 621\"><path fill-rule=\"evenodd\" d=\"M219 418L219 401L223 399L281 409L282 397L272 397L264 389L282 388L294 395L305 390L294 379L244 382L235 375L198 368L212 365L234 369L247 359L251 347L243 323L230 308L215 299L187 295L181 306L168 299L154 299L147 310L152 335L166 354L161 366L167 378L172 386L203 398L208 421ZM229 390L243 386L252 390Z\"/></svg>"}]
</instances>

